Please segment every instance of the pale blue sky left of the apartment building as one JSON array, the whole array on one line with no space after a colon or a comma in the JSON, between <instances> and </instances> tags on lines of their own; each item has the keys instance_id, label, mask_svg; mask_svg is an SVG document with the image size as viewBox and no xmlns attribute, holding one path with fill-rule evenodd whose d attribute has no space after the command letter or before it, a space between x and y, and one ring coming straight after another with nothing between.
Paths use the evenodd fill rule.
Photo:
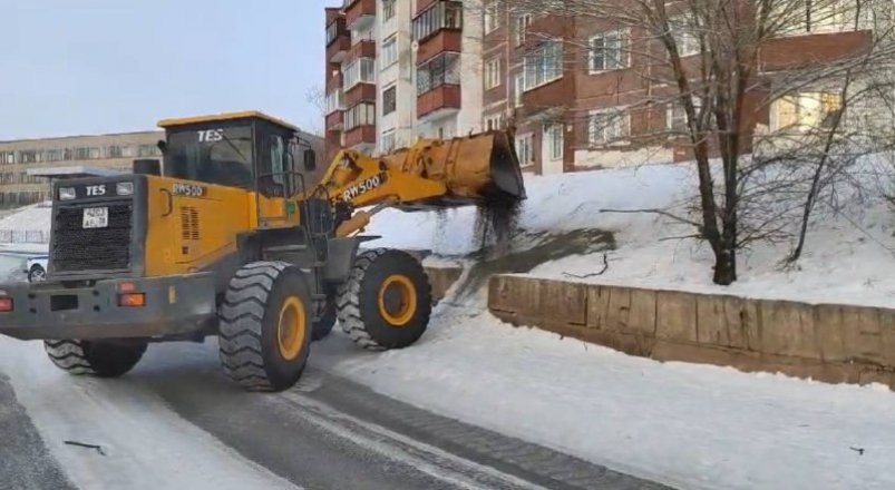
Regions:
<instances>
[{"instance_id":1,"label":"pale blue sky left of the apartment building","mask_svg":"<svg viewBox=\"0 0 895 490\"><path fill-rule=\"evenodd\" d=\"M322 126L324 7L341 0L0 0L0 140L262 110Z\"/></svg>"}]
</instances>

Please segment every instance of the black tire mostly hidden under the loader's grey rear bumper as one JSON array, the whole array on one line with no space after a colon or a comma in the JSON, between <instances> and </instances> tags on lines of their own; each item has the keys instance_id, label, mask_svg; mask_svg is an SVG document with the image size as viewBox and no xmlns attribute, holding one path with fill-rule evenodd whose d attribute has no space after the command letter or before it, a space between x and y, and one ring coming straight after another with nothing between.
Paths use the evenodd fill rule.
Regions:
<instances>
[{"instance_id":1,"label":"black tire mostly hidden under the loader's grey rear bumper","mask_svg":"<svg viewBox=\"0 0 895 490\"><path fill-rule=\"evenodd\" d=\"M137 365L146 342L43 341L43 349L57 367L70 374L118 378Z\"/></svg>"}]
</instances>

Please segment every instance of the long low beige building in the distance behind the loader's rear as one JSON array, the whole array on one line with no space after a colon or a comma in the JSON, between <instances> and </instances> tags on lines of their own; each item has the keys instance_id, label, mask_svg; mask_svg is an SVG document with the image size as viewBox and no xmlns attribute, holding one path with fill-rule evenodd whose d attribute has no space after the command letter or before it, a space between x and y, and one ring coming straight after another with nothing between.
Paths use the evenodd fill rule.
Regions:
<instances>
[{"instance_id":1,"label":"long low beige building in the distance behind the loader's rear","mask_svg":"<svg viewBox=\"0 0 895 490\"><path fill-rule=\"evenodd\" d=\"M29 169L86 166L130 171L135 158L160 158L164 131L0 141L0 207L51 198L47 178Z\"/></svg>"}]
</instances>

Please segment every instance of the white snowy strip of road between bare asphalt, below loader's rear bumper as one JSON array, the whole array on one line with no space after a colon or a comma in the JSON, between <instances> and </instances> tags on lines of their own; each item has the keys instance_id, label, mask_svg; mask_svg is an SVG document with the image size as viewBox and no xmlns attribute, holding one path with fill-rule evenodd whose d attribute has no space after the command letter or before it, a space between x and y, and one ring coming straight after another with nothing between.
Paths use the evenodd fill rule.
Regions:
<instances>
[{"instance_id":1,"label":"white snowy strip of road between bare asphalt, below loader's rear bumper","mask_svg":"<svg viewBox=\"0 0 895 490\"><path fill-rule=\"evenodd\" d=\"M294 488L127 380L52 367L40 342L0 339L0 372L77 488ZM99 444L106 455L66 440Z\"/></svg>"}]
</instances>

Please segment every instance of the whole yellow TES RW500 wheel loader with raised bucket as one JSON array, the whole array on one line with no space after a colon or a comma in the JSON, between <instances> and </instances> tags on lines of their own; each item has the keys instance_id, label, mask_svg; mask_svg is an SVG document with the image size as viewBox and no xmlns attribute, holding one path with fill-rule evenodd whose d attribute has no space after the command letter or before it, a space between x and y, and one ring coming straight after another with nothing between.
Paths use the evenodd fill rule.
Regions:
<instances>
[{"instance_id":1,"label":"whole yellow TES RW500 wheel loader with raised bucket","mask_svg":"<svg viewBox=\"0 0 895 490\"><path fill-rule=\"evenodd\" d=\"M46 281L0 285L0 334L43 341L72 374L119 376L150 342L216 335L233 381L284 390L337 316L362 347L408 346L430 287L407 253L361 248L371 216L525 198L502 131L342 150L320 177L298 129L261 112L159 126L163 161L55 182Z\"/></svg>"}]
</instances>

